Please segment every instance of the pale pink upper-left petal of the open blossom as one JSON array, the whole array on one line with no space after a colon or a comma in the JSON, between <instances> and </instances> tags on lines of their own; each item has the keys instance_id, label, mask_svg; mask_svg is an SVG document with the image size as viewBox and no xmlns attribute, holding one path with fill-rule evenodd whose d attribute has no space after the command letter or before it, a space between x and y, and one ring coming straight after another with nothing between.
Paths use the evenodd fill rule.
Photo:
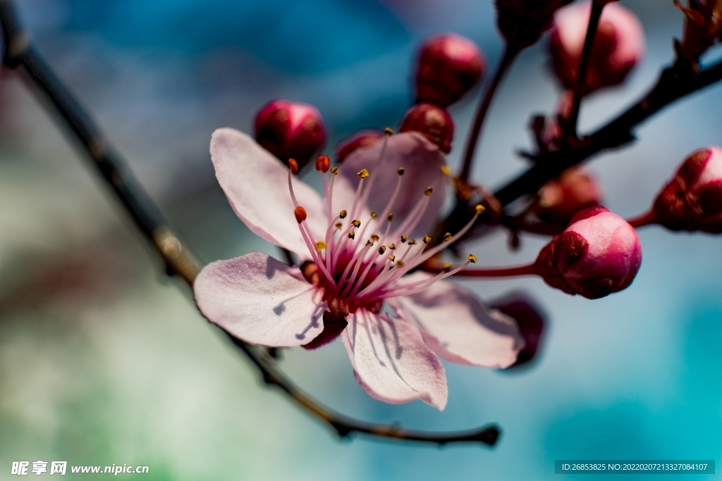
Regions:
<instances>
[{"instance_id":1,"label":"pale pink upper-left petal of the open blossom","mask_svg":"<svg viewBox=\"0 0 722 481\"><path fill-rule=\"evenodd\" d=\"M253 138L232 128L219 128L213 133L211 159L228 202L248 229L308 258L308 247L293 215L288 168ZM316 237L313 240L323 239L326 219L318 193L296 177L293 190L299 205L305 208L306 222Z\"/></svg>"}]
</instances>

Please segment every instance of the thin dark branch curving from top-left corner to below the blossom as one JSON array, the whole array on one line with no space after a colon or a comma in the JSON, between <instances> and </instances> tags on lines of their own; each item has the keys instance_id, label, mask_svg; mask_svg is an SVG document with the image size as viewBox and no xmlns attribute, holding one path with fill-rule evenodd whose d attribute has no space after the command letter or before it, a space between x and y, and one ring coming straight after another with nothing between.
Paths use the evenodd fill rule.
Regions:
<instances>
[{"instance_id":1,"label":"thin dark branch curving from top-left corner to below the blossom","mask_svg":"<svg viewBox=\"0 0 722 481\"><path fill-rule=\"evenodd\" d=\"M173 229L170 229L160 210L127 167L123 157L110 147L90 115L87 115L35 50L19 24L12 0L0 0L0 22L4 36L4 65L19 68L27 75L27 79L35 87L35 92L40 94L43 100L47 100L52 105L53 112L58 114L56 117L58 123L61 123L79 141L92 166L100 172L105 183L120 200L144 237L152 242L158 255L165 262L168 273L178 275L188 286L193 286L193 281L200 270L199 263L174 234ZM266 384L279 387L300 407L329 425L339 436L362 433L380 438L435 444L474 442L489 446L493 446L499 436L499 430L495 425L472 431L434 433L409 431L396 425L365 423L349 418L321 405L313 397L295 387L264 350L233 337L229 332L226 334L256 365Z\"/></svg>"}]
</instances>

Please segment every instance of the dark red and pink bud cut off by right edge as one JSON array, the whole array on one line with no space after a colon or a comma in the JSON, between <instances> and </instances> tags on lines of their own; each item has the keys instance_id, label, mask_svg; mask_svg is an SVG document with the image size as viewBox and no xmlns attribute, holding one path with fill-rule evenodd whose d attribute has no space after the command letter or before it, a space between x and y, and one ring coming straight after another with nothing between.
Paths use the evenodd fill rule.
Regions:
<instances>
[{"instance_id":1,"label":"dark red and pink bud cut off by right edge","mask_svg":"<svg viewBox=\"0 0 722 481\"><path fill-rule=\"evenodd\" d=\"M653 213L675 231L722 232L722 149L708 147L687 157L657 195Z\"/></svg>"}]
</instances>

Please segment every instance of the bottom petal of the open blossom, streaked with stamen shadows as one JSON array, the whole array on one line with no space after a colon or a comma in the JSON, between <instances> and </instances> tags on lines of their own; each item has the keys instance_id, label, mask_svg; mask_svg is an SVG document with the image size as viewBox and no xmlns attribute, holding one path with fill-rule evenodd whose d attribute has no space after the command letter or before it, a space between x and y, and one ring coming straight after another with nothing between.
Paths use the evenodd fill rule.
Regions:
<instances>
[{"instance_id":1,"label":"bottom petal of the open blossom, streaked with stamen shadows","mask_svg":"<svg viewBox=\"0 0 722 481\"><path fill-rule=\"evenodd\" d=\"M393 404L420 399L443 410L444 366L416 327L363 310L347 319L341 338L357 381L371 397Z\"/></svg>"}]
</instances>

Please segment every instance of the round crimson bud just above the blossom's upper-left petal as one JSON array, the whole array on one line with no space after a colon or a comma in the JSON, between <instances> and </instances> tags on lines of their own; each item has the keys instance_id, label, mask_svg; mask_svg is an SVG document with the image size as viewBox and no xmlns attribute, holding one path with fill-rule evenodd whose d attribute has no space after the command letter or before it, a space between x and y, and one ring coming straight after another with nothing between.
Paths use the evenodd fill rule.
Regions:
<instances>
[{"instance_id":1,"label":"round crimson bud just above the blossom's upper-left petal","mask_svg":"<svg viewBox=\"0 0 722 481\"><path fill-rule=\"evenodd\" d=\"M271 100L256 114L256 141L284 162L295 159L303 169L326 142L326 128L316 108Z\"/></svg>"}]
</instances>

